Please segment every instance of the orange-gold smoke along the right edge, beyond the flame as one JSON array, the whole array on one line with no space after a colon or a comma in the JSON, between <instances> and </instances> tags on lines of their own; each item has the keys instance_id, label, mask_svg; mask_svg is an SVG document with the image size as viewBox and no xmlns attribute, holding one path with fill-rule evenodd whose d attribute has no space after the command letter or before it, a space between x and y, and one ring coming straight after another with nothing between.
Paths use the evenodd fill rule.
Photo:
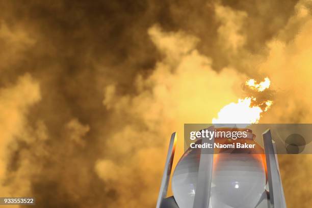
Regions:
<instances>
[{"instance_id":1,"label":"orange-gold smoke along the right edge, beyond the flame","mask_svg":"<svg viewBox=\"0 0 312 208\"><path fill-rule=\"evenodd\" d=\"M272 108L275 113L268 114L264 122L309 123L311 120L310 8L310 2L299 2L285 28L267 43L270 52L259 70L270 73L278 93ZM289 40L289 37L293 38Z\"/></svg>"}]
</instances>

